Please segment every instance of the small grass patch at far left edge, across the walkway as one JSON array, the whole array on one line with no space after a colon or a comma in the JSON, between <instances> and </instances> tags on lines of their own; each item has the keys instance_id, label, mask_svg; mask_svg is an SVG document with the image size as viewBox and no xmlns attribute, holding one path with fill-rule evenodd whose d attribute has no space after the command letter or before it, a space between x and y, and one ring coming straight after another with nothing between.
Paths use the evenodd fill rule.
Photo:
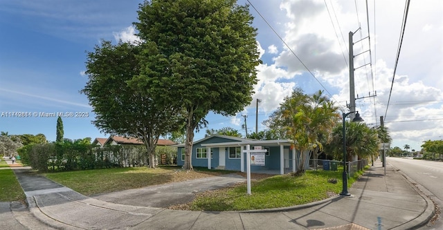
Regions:
<instances>
[{"instance_id":1,"label":"small grass patch at far left edge, across the walkway","mask_svg":"<svg viewBox=\"0 0 443 230\"><path fill-rule=\"evenodd\" d=\"M25 200L25 193L23 189L21 189L12 169L0 170L0 182L0 202Z\"/></svg>"}]
</instances>

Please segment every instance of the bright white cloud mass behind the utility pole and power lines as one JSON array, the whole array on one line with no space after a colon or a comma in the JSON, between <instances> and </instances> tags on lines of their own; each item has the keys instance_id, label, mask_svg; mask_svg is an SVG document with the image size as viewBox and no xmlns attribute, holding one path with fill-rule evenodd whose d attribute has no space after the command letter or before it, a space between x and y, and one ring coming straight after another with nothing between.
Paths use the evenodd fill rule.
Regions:
<instances>
[{"instance_id":1,"label":"bright white cloud mass behind the utility pole and power lines","mask_svg":"<svg viewBox=\"0 0 443 230\"><path fill-rule=\"evenodd\" d=\"M336 101L345 106L345 102L350 101L348 33L355 32L354 42L368 36L365 4L358 5L361 30L357 30L359 23L354 3L327 1L327 6L332 17L329 17L324 1L282 0L280 15L286 14L287 18L280 17L282 20L275 25L280 25L284 42L321 82L325 82ZM370 65L359 68L370 62L369 52L365 52L354 57L354 68L357 68L354 78L356 94L366 97L356 100L357 110L367 124L375 125L379 124L379 117L386 112L404 3L377 1L376 31L373 28L373 2L369 7L370 32L377 34L371 34L371 47L368 39L354 44L354 55L371 48L373 75ZM439 135L443 132L443 123L435 120L441 119L443 114L443 79L440 77L443 73L442 7L442 1L434 0L410 8L385 117L394 143L410 144L416 150L419 150L423 140L441 139ZM392 10L380 10L383 8ZM260 42L266 44L266 41ZM263 99L259 109L266 113L275 110L284 97L290 95L293 87L300 85L300 77L311 77L291 50L283 46L279 52L277 47L283 44L274 44L270 44L266 51L276 57L257 67L258 83L253 102L248 106L255 108L255 99ZM321 86L304 88L305 92L318 89L323 90ZM377 97L368 97L374 95L374 91L377 91ZM402 122L410 120L419 121Z\"/></svg>"}]
</instances>

